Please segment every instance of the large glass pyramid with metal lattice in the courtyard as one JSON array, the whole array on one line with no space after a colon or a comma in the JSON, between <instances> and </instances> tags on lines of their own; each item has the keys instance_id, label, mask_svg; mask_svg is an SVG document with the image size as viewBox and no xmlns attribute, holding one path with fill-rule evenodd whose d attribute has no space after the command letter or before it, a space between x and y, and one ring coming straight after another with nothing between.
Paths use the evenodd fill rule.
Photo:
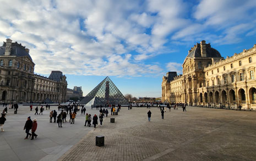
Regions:
<instances>
[{"instance_id":1,"label":"large glass pyramid with metal lattice in the courtyard","mask_svg":"<svg viewBox=\"0 0 256 161\"><path fill-rule=\"evenodd\" d=\"M108 76L80 101L80 104L85 104L85 106L93 105L94 107L96 105L105 106L106 103L116 105L129 104L128 100Z\"/></svg>"}]
</instances>

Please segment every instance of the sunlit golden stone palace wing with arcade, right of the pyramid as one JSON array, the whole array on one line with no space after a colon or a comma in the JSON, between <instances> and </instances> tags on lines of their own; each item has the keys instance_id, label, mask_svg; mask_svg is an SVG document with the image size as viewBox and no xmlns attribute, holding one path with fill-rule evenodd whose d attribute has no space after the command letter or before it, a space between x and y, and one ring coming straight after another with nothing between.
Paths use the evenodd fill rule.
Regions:
<instances>
[{"instance_id":1,"label":"sunlit golden stone palace wing with arcade, right of the pyramid","mask_svg":"<svg viewBox=\"0 0 256 161\"><path fill-rule=\"evenodd\" d=\"M162 77L162 101L256 109L256 45L224 59L201 41L188 51L183 74Z\"/></svg>"}]
</instances>

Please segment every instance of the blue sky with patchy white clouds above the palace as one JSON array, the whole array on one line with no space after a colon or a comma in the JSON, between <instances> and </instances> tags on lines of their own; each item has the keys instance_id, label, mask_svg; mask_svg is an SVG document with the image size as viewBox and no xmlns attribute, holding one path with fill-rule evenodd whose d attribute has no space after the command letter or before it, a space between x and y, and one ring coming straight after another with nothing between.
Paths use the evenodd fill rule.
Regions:
<instances>
[{"instance_id":1,"label":"blue sky with patchy white clouds above the palace","mask_svg":"<svg viewBox=\"0 0 256 161\"><path fill-rule=\"evenodd\" d=\"M0 0L0 40L30 48L35 73L61 70L89 93L106 76L123 95L161 97L190 47L223 57L256 43L255 0Z\"/></svg>"}]
</instances>

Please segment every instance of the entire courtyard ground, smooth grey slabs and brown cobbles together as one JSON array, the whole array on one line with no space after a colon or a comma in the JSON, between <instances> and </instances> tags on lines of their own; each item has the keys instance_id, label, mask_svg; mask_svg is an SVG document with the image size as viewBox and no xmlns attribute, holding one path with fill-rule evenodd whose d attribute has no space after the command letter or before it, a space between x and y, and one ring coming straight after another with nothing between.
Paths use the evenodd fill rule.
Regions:
<instances>
[{"instance_id":1,"label":"entire courtyard ground, smooth grey slabs and brown cobbles together","mask_svg":"<svg viewBox=\"0 0 256 161\"><path fill-rule=\"evenodd\" d=\"M51 107L57 109L57 107ZM0 107L3 110L3 107ZM84 126L78 113L75 124L58 128L49 123L49 112L34 115L19 106L8 109L4 132L0 132L0 160L256 160L256 111L187 107L171 110L161 119L160 110L123 107L110 123ZM98 114L87 108L86 113ZM26 118L37 118L39 135L24 140ZM95 146L96 136L105 136L105 146Z\"/></svg>"}]
</instances>

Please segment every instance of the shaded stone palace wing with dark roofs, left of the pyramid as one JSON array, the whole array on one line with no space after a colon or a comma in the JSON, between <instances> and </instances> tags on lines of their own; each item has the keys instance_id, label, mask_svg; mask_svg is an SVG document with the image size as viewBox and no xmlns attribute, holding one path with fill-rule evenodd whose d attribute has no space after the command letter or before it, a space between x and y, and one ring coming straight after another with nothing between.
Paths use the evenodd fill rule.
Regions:
<instances>
[{"instance_id":1,"label":"shaded stone palace wing with dark roofs, left of the pyramid","mask_svg":"<svg viewBox=\"0 0 256 161\"><path fill-rule=\"evenodd\" d=\"M67 101L66 76L52 71L49 77L34 74L29 49L9 38L0 47L1 103Z\"/></svg>"}]
</instances>

